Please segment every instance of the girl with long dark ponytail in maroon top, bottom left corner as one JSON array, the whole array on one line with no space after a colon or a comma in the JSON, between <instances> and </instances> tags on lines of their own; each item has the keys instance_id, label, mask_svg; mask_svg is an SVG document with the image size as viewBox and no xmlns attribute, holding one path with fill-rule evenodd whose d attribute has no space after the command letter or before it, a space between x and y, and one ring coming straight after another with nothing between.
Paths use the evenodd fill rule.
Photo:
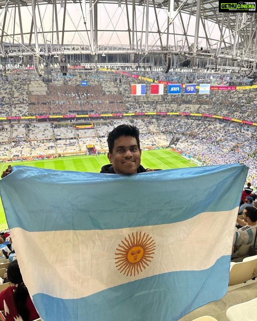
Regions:
<instances>
[{"instance_id":1,"label":"girl with long dark ponytail in maroon top, bottom left corner","mask_svg":"<svg viewBox=\"0 0 257 321\"><path fill-rule=\"evenodd\" d=\"M17 260L7 268L8 280L13 283L0 293L0 310L4 310L6 321L32 321L39 318L28 289L22 280Z\"/></svg>"}]
</instances>

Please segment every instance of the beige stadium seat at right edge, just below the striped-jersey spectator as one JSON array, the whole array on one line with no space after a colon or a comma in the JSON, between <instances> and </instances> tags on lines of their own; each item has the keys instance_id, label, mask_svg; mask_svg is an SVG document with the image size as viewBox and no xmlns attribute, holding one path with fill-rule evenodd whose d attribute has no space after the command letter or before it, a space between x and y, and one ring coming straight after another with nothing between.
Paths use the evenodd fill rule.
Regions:
<instances>
[{"instance_id":1,"label":"beige stadium seat at right edge, just below the striped-jersey spectator","mask_svg":"<svg viewBox=\"0 0 257 321\"><path fill-rule=\"evenodd\" d=\"M231 262L228 285L240 284L252 279L256 265L257 255L246 257L243 262Z\"/></svg>"}]
</instances>

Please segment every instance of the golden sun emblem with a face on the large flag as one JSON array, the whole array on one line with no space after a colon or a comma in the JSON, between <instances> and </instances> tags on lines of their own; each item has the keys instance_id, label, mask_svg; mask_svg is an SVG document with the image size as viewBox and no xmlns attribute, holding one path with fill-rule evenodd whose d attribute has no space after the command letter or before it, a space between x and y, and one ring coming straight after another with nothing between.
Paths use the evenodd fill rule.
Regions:
<instances>
[{"instance_id":1,"label":"golden sun emblem with a face on the large flag","mask_svg":"<svg viewBox=\"0 0 257 321\"><path fill-rule=\"evenodd\" d=\"M149 234L144 233L142 236L142 232L139 232L139 237L136 232L136 237L132 233L132 239L130 235L128 238L125 238L125 242L121 241L122 245L119 244L119 248L116 248L118 252L115 253L115 264L123 275L127 273L127 276L136 276L136 273L143 272L142 268L149 266L147 262L152 262L150 259L155 254L155 241Z\"/></svg>"}]
</instances>

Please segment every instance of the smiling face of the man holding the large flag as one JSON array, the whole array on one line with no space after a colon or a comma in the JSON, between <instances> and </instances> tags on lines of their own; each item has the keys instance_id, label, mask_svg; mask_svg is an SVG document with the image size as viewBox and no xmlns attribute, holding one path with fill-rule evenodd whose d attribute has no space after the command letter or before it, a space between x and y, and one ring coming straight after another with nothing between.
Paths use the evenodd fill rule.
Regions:
<instances>
[{"instance_id":1,"label":"smiling face of the man holding the large flag","mask_svg":"<svg viewBox=\"0 0 257 321\"><path fill-rule=\"evenodd\" d=\"M141 149L131 136L115 139L112 153L108 153L116 174L135 174L141 162Z\"/></svg>"}]
</instances>

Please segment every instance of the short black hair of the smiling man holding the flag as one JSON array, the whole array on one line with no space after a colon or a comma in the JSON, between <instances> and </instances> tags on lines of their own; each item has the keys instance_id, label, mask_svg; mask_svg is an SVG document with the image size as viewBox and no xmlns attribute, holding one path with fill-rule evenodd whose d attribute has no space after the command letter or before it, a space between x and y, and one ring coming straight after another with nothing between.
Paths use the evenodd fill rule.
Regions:
<instances>
[{"instance_id":1,"label":"short black hair of the smiling man holding the flag","mask_svg":"<svg viewBox=\"0 0 257 321\"><path fill-rule=\"evenodd\" d=\"M112 153L115 139L120 138L120 136L131 136L136 138L137 147L138 149L140 149L139 129L136 126L122 124L114 128L108 134L107 143L108 143L109 153Z\"/></svg>"}]
</instances>

